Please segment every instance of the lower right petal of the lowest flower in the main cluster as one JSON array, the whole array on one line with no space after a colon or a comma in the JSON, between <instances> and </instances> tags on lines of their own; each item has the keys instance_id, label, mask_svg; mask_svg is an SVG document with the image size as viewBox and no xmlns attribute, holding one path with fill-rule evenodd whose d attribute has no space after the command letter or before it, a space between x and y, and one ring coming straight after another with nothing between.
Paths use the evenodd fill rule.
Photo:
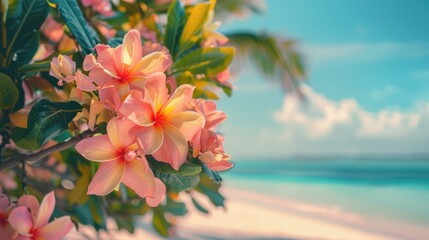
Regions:
<instances>
[{"instance_id":1,"label":"lower right petal of the lowest flower in the main cluster","mask_svg":"<svg viewBox=\"0 0 429 240\"><path fill-rule=\"evenodd\" d=\"M141 198L153 196L155 191L154 176L150 168L145 165L144 160L127 162L125 176L122 182L133 189Z\"/></svg>"}]
</instances>

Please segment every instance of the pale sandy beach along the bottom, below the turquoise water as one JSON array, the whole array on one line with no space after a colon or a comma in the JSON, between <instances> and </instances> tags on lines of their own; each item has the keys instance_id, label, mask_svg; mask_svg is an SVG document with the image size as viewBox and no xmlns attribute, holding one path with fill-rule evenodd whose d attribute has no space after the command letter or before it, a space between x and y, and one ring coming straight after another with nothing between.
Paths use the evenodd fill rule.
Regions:
<instances>
[{"instance_id":1,"label":"pale sandy beach along the bottom, below the turquoise water","mask_svg":"<svg viewBox=\"0 0 429 240\"><path fill-rule=\"evenodd\" d=\"M424 239L429 230L424 228L408 228L402 234L380 232L368 225L360 216L347 213L337 208L324 208L276 199L259 193L226 188L223 191L228 197L227 209L211 209L209 215L199 213L191 204L186 217L178 218L175 229L177 239L366 239L387 240ZM205 206L210 206L201 198ZM115 231L113 222L109 228L111 235L101 233L98 239L162 239L154 233L149 223L149 216L142 219L143 229L130 235L125 231ZM394 227L394 226L393 226ZM407 230L407 228L405 228ZM97 236L89 229L87 237ZM394 233L394 231L393 231ZM66 239L82 239L80 234L73 232Z\"/></svg>"}]
</instances>

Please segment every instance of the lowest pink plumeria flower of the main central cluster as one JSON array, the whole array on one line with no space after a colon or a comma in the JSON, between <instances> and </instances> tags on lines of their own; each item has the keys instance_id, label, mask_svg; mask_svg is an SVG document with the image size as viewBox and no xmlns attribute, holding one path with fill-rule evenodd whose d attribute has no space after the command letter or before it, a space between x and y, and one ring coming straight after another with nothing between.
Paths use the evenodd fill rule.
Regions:
<instances>
[{"instance_id":1,"label":"lowest pink plumeria flower of the main central cluster","mask_svg":"<svg viewBox=\"0 0 429 240\"><path fill-rule=\"evenodd\" d=\"M104 196L121 182L133 189L151 206L156 206L165 195L165 186L157 181L144 156L140 156L135 137L130 134L134 123L113 118L107 124L107 135L84 139L76 150L85 158L100 162L88 186L88 194Z\"/></svg>"}]
</instances>

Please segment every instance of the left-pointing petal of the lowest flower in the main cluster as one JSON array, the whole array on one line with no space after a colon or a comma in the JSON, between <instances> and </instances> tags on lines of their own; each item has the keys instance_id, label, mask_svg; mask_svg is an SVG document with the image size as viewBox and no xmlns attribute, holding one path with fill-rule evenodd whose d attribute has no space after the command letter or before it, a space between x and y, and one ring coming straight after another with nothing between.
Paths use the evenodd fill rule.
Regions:
<instances>
[{"instance_id":1,"label":"left-pointing petal of the lowest flower in the main cluster","mask_svg":"<svg viewBox=\"0 0 429 240\"><path fill-rule=\"evenodd\" d=\"M112 161L120 157L107 135L83 139L75 148L86 159L95 162Z\"/></svg>"}]
</instances>

